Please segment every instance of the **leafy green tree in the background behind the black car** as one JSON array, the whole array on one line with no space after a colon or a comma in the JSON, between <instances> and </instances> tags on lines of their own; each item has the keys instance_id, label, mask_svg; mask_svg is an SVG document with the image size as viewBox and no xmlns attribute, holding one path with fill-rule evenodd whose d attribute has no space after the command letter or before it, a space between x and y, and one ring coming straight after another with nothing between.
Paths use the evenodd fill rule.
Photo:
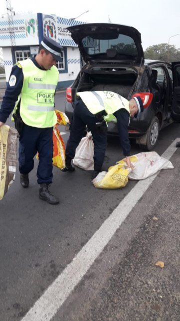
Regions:
<instances>
[{"instance_id":1,"label":"leafy green tree in the background behind the black car","mask_svg":"<svg viewBox=\"0 0 180 321\"><path fill-rule=\"evenodd\" d=\"M150 45L145 50L145 58L169 62L180 61L180 48L177 49L174 44L168 43Z\"/></svg>"}]
</instances>

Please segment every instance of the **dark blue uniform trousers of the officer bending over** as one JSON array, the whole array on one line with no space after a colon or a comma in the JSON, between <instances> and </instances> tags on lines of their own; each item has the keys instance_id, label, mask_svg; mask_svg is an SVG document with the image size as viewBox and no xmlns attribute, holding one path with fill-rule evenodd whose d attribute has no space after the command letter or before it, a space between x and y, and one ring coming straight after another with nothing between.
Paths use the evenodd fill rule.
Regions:
<instances>
[{"instance_id":1,"label":"dark blue uniform trousers of the officer bending over","mask_svg":"<svg viewBox=\"0 0 180 321\"><path fill-rule=\"evenodd\" d=\"M84 136L86 125L91 131L94 142L94 170L101 171L107 146L107 134L100 133L96 127L97 117L92 114L84 102L79 99L74 103L74 112L70 136L66 145L66 161L74 158L76 147Z\"/></svg>"}]
</instances>

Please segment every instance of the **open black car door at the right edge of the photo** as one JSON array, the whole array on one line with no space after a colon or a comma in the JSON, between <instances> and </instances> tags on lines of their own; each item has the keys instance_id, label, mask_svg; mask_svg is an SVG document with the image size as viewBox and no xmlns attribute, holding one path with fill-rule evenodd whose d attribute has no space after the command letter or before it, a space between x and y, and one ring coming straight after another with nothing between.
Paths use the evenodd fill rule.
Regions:
<instances>
[{"instance_id":1,"label":"open black car door at the right edge of the photo","mask_svg":"<svg viewBox=\"0 0 180 321\"><path fill-rule=\"evenodd\" d=\"M173 69L173 102L172 117L180 121L180 61L172 62Z\"/></svg>"}]
</instances>

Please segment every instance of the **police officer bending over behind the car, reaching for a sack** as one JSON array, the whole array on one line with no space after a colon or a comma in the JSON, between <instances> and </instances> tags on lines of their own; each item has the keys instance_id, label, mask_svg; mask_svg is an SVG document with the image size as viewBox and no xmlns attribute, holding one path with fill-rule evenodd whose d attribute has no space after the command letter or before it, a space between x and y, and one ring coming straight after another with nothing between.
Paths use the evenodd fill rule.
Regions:
<instances>
[{"instance_id":1,"label":"police officer bending over behind the car, reaching for a sack","mask_svg":"<svg viewBox=\"0 0 180 321\"><path fill-rule=\"evenodd\" d=\"M74 112L70 129L69 140L66 146L66 167L63 171L74 171L71 164L86 128L92 132L94 141L94 172L92 178L101 171L107 146L107 125L104 119L116 117L119 137L124 155L129 167L130 142L128 137L128 125L130 116L136 117L144 110L143 101L140 96L127 100L118 93L112 91L82 91L77 93L74 103Z\"/></svg>"}]
</instances>

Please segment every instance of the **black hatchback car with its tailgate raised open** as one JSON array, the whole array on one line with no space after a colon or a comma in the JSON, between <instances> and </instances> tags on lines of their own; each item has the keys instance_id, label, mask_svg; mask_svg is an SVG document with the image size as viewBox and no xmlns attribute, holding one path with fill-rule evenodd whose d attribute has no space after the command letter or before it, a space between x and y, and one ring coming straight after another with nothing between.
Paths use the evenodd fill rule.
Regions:
<instances>
[{"instance_id":1,"label":"black hatchback car with its tailgate raised open","mask_svg":"<svg viewBox=\"0 0 180 321\"><path fill-rule=\"evenodd\" d=\"M141 33L131 26L88 23L67 29L83 57L77 78L66 89L69 119L78 91L114 91L127 99L138 94L148 108L131 119L129 136L152 150L160 129L180 121L180 62L144 59ZM116 123L108 123L108 133L118 133Z\"/></svg>"}]
</instances>

